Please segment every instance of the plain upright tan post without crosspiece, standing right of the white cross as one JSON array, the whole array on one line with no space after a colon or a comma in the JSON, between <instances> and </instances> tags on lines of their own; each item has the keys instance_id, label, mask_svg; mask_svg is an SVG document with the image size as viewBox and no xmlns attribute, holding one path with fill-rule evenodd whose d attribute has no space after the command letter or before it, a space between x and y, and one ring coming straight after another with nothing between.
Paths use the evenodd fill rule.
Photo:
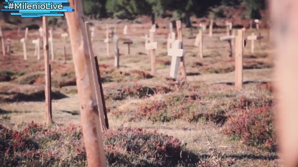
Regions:
<instances>
[{"instance_id":1,"label":"plain upright tan post without crosspiece, standing right of the white cross","mask_svg":"<svg viewBox=\"0 0 298 167\"><path fill-rule=\"evenodd\" d=\"M243 31L238 30L235 43L235 87L242 89L243 84Z\"/></svg>"}]
</instances>

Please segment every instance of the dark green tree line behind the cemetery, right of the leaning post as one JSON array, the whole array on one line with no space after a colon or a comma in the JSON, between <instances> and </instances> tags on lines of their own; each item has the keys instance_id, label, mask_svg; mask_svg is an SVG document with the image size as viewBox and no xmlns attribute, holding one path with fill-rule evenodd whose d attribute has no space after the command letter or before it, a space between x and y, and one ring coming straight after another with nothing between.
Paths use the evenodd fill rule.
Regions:
<instances>
[{"instance_id":1,"label":"dark green tree line behind the cemetery, right of the leaning post","mask_svg":"<svg viewBox=\"0 0 298 167\"><path fill-rule=\"evenodd\" d=\"M140 15L151 16L152 23L158 16L171 16L191 25L190 17L202 17L211 9L221 5L234 6L244 4L249 19L261 19L260 11L266 8L266 0L83 0L86 15L92 18L114 17L133 20ZM221 16L216 11L216 16Z\"/></svg>"}]
</instances>

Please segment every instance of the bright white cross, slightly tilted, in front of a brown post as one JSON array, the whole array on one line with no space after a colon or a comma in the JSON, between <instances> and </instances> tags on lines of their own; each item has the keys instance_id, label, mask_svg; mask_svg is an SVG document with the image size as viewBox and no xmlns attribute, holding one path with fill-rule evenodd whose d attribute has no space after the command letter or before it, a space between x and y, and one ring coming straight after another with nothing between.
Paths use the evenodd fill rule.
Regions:
<instances>
[{"instance_id":1,"label":"bright white cross, slightly tilted, in front of a brown post","mask_svg":"<svg viewBox=\"0 0 298 167\"><path fill-rule=\"evenodd\" d=\"M177 72L179 68L179 58L183 57L185 55L185 52L182 48L182 42L179 40L175 40L172 43L172 48L168 49L168 56L172 56L172 62L171 62L171 70L170 70L170 77L176 79L177 78Z\"/></svg>"}]
</instances>

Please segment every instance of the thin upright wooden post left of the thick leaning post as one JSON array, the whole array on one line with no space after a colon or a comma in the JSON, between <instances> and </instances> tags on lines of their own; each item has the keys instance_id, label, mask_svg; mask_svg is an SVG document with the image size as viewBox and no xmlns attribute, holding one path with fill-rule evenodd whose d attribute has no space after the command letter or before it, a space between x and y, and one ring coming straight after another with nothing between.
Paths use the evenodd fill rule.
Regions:
<instances>
[{"instance_id":1,"label":"thin upright wooden post left of the thick leaning post","mask_svg":"<svg viewBox=\"0 0 298 167\"><path fill-rule=\"evenodd\" d=\"M52 124L52 108L51 108L51 83L50 83L50 66L49 66L49 33L48 33L48 18L46 16L42 17L42 25L43 25L43 37L44 37L44 71L45 71L45 96L46 96L46 124Z\"/></svg>"}]
</instances>

